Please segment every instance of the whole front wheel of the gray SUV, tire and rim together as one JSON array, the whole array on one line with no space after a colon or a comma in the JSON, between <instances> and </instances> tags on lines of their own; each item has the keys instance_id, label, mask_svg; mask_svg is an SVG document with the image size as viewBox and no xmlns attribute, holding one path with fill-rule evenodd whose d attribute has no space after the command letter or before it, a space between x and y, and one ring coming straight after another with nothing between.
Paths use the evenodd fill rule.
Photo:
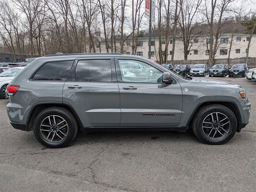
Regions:
<instances>
[{"instance_id":1,"label":"whole front wheel of the gray SUV, tire and rim together","mask_svg":"<svg viewBox=\"0 0 256 192\"><path fill-rule=\"evenodd\" d=\"M213 114L213 116L211 114ZM214 118L213 121L217 122L216 114L218 114L218 120L220 121L219 125L203 123L211 122L212 117ZM220 104L209 104L201 107L196 112L192 122L192 129L196 137L202 142L212 145L224 144L228 142L236 133L236 128L236 116L229 108Z\"/></svg>"}]
</instances>

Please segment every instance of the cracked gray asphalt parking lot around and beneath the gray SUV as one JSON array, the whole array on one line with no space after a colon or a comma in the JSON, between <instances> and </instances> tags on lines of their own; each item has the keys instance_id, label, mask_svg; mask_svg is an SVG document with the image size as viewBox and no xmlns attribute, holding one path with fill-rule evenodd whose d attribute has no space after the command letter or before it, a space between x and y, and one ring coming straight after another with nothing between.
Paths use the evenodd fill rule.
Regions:
<instances>
[{"instance_id":1,"label":"cracked gray asphalt parking lot around and beneath the gray SUV","mask_svg":"<svg viewBox=\"0 0 256 192\"><path fill-rule=\"evenodd\" d=\"M256 82L208 79L243 86L252 104L246 128L218 146L188 130L79 132L69 147L45 148L11 127L8 100L0 100L0 191L255 191Z\"/></svg>"}]
</instances>

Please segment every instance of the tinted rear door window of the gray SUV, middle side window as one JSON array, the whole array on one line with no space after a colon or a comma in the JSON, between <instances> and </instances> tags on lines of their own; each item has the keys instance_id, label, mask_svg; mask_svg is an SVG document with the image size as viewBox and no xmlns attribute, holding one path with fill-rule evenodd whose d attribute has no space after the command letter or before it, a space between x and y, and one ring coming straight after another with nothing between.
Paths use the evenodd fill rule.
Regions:
<instances>
[{"instance_id":1,"label":"tinted rear door window of the gray SUV, middle side window","mask_svg":"<svg viewBox=\"0 0 256 192\"><path fill-rule=\"evenodd\" d=\"M76 81L111 82L110 60L80 60L76 66Z\"/></svg>"}]
</instances>

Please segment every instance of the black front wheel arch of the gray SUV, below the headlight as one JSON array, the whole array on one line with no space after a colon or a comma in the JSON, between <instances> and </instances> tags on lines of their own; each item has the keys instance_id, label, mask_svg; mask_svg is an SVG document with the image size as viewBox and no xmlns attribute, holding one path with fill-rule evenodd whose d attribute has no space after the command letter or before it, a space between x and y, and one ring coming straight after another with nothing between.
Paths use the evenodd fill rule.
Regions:
<instances>
[{"instance_id":1,"label":"black front wheel arch of the gray SUV, below the headlight","mask_svg":"<svg viewBox=\"0 0 256 192\"><path fill-rule=\"evenodd\" d=\"M204 101L200 102L196 106L196 108L194 109L192 114L190 115L190 118L188 119L186 126L190 126L190 124L199 108L201 108L202 106L205 106L205 105L209 105L209 104L221 104L223 106L226 106L230 110L232 110L232 112L234 112L234 114L236 116L236 120L237 120L237 124L238 124L237 132L240 132L240 130L242 128L242 123L241 123L242 117L239 112L239 108L238 108L237 104L232 100L204 100Z\"/></svg>"}]
</instances>

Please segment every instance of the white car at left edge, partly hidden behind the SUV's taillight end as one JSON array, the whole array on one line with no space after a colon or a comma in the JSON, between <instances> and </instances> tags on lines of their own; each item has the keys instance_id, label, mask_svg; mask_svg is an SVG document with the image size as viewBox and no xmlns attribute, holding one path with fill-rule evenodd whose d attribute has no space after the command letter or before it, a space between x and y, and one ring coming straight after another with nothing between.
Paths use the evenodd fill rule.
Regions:
<instances>
[{"instance_id":1,"label":"white car at left edge, partly hidden behind the SUV's taillight end","mask_svg":"<svg viewBox=\"0 0 256 192\"><path fill-rule=\"evenodd\" d=\"M0 98L6 99L6 87L12 79L24 69L24 67L13 67L0 73Z\"/></svg>"}]
</instances>

